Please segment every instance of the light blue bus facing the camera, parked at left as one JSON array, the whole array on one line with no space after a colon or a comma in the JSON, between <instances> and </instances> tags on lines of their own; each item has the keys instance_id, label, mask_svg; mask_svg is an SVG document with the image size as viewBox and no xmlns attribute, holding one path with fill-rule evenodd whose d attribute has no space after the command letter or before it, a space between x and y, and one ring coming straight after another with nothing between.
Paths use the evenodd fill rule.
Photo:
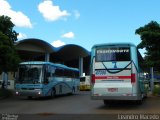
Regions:
<instances>
[{"instance_id":1,"label":"light blue bus facing the camera, parked at left","mask_svg":"<svg viewBox=\"0 0 160 120\"><path fill-rule=\"evenodd\" d=\"M51 62L23 62L18 68L17 96L43 97L79 91L79 70Z\"/></svg>"}]
</instances>

